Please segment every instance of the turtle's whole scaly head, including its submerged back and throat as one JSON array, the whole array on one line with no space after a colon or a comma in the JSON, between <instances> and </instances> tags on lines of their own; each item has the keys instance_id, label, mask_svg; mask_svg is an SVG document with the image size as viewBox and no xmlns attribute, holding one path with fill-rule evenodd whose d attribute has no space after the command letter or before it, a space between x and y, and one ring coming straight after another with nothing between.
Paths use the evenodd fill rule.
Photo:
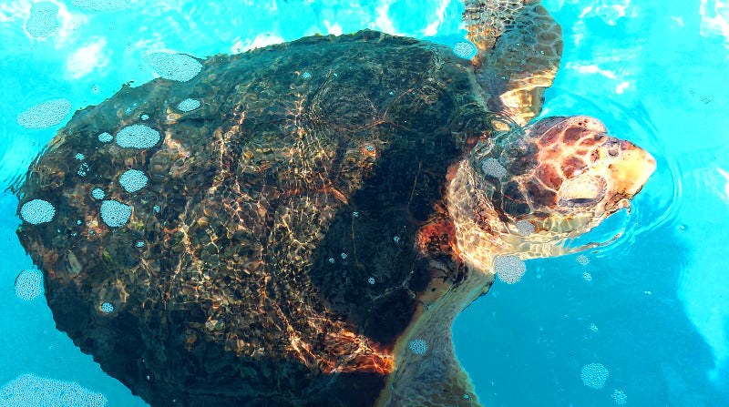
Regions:
<instances>
[{"instance_id":1,"label":"turtle's whole scaly head, including its submerged back and throat","mask_svg":"<svg viewBox=\"0 0 729 407\"><path fill-rule=\"evenodd\" d=\"M630 200L655 169L652 156L611 137L592 117L547 117L503 132L469 155L474 222L501 253L557 256ZM604 244L604 243L603 243ZM531 254L529 254L531 253ZM526 254L526 255L525 255Z\"/></svg>"}]
</instances>

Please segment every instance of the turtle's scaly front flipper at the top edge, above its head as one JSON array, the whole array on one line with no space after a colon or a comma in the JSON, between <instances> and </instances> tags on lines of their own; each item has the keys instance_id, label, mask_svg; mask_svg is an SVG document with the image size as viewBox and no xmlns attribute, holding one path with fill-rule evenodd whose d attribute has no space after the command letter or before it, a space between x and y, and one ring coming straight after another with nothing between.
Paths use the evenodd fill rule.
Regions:
<instances>
[{"instance_id":1,"label":"turtle's scaly front flipper at the top edge, above its head","mask_svg":"<svg viewBox=\"0 0 729 407\"><path fill-rule=\"evenodd\" d=\"M562 55L562 30L539 0L464 0L488 108L524 126L539 115Z\"/></svg>"}]
</instances>

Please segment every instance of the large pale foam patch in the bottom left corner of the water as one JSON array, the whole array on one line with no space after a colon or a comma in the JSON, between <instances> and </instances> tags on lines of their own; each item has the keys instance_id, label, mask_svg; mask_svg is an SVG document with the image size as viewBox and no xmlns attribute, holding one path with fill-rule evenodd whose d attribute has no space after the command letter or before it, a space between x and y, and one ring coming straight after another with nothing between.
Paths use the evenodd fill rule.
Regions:
<instances>
[{"instance_id":1,"label":"large pale foam patch in the bottom left corner of the water","mask_svg":"<svg viewBox=\"0 0 729 407\"><path fill-rule=\"evenodd\" d=\"M0 389L0 405L103 407L107 405L107 398L84 389L77 382L61 382L26 373Z\"/></svg>"}]
</instances>

